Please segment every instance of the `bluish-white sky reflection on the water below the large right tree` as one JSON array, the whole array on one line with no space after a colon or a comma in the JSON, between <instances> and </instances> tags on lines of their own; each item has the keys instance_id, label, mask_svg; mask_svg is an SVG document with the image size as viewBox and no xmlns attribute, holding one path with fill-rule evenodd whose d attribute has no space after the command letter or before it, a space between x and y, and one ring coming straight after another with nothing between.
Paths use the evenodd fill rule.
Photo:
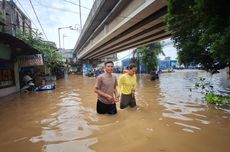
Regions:
<instances>
[{"instance_id":1,"label":"bluish-white sky reflection on the water below the large right tree","mask_svg":"<svg viewBox=\"0 0 230 152\"><path fill-rule=\"evenodd\" d=\"M196 112L207 110L204 95L200 90L194 90L195 83L199 82L200 78L205 78L216 90L229 90L227 74L224 71L216 75L205 71L177 71L161 75L160 89L164 98L161 99L160 104L166 107L165 112L162 113L164 117L186 121L195 119L203 124L209 124L207 120L203 120L204 115L196 114Z\"/></svg>"}]
</instances>

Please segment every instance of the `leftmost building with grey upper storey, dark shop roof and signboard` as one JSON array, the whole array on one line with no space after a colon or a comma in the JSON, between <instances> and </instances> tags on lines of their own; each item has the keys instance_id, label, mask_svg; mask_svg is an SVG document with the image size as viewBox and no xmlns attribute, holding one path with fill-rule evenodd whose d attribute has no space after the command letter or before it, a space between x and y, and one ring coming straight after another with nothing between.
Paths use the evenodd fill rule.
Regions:
<instances>
[{"instance_id":1,"label":"leftmost building with grey upper storey, dark shop roof and signboard","mask_svg":"<svg viewBox=\"0 0 230 152\"><path fill-rule=\"evenodd\" d=\"M16 31L31 32L31 21L10 1L0 1L0 97L20 91L20 70L43 64L39 51L16 38Z\"/></svg>"}]
</instances>

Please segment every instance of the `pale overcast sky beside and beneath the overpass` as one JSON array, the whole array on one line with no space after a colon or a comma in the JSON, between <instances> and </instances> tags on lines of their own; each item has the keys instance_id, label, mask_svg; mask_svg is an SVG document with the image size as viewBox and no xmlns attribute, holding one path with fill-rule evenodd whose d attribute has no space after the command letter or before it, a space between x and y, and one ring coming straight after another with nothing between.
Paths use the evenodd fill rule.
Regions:
<instances>
[{"instance_id":1,"label":"pale overcast sky beside and beneath the overpass","mask_svg":"<svg viewBox=\"0 0 230 152\"><path fill-rule=\"evenodd\" d=\"M42 29L36 19L32 6L29 0L14 0L17 6L32 20L32 27ZM49 41L56 43L59 47L58 28L72 26L79 29L80 15L79 15L79 0L31 0L40 23L44 29L45 35ZM81 16L82 25L84 25L94 0L80 0L81 2ZM43 34L44 35L44 34ZM63 28L60 30L61 47L72 49L80 35L79 30L70 30L69 28ZM45 36L43 36L44 39ZM167 40L168 42L169 40ZM163 48L166 56L170 56L172 59L176 58L176 49L173 45L166 45ZM120 58L127 56L129 51L121 53ZM163 56L160 56L163 59Z\"/></svg>"}]
</instances>

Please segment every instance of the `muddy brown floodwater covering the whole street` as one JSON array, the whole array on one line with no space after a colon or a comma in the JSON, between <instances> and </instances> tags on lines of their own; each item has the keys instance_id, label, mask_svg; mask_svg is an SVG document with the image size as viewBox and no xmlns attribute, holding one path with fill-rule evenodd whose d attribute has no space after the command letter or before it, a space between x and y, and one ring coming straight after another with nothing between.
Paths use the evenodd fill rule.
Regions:
<instances>
[{"instance_id":1,"label":"muddy brown floodwater covering the whole street","mask_svg":"<svg viewBox=\"0 0 230 152\"><path fill-rule=\"evenodd\" d=\"M118 75L119 77L119 75ZM207 104L199 77L229 91L225 73L139 75L136 108L95 112L95 78L70 75L54 91L0 99L1 152L228 152L230 110Z\"/></svg>"}]
</instances>

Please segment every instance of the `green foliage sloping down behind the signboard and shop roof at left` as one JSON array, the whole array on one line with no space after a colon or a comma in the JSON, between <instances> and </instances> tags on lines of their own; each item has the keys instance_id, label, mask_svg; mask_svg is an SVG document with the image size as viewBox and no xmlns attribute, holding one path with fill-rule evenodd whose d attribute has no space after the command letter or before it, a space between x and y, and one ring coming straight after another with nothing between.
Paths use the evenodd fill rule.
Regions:
<instances>
[{"instance_id":1,"label":"green foliage sloping down behind the signboard and shop roof at left","mask_svg":"<svg viewBox=\"0 0 230 152\"><path fill-rule=\"evenodd\" d=\"M28 45L40 51L44 56L44 61L51 69L59 67L63 61L62 55L57 52L57 49L42 39L42 34L32 31L32 33L23 33L17 31L17 38L23 40Z\"/></svg>"}]
</instances>

